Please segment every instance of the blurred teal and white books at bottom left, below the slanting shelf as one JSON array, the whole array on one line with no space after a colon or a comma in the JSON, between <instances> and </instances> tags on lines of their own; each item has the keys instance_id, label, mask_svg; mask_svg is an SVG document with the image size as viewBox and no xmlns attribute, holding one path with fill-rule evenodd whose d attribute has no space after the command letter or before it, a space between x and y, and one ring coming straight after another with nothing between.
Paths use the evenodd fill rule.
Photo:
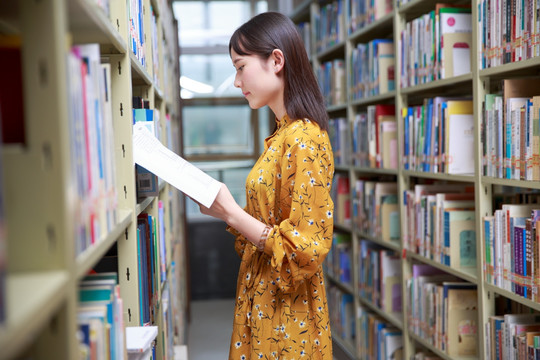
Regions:
<instances>
[{"instance_id":1,"label":"blurred teal and white books at bottom left, below the slanting shelf","mask_svg":"<svg viewBox=\"0 0 540 360\"><path fill-rule=\"evenodd\" d=\"M123 301L116 272L91 273L79 284L80 359L125 359Z\"/></svg>"}]
</instances>

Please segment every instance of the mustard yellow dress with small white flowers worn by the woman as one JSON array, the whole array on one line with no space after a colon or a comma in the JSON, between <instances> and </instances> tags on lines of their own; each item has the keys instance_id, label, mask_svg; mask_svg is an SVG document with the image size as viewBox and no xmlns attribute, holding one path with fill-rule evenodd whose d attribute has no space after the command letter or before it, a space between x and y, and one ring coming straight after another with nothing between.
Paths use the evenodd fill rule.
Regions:
<instances>
[{"instance_id":1,"label":"mustard yellow dress with small white flowers worn by the woman","mask_svg":"<svg viewBox=\"0 0 540 360\"><path fill-rule=\"evenodd\" d=\"M332 148L307 119L277 125L246 181L245 210L272 226L264 251L228 228L242 258L229 359L331 360L321 264L332 245Z\"/></svg>"}]
</instances>

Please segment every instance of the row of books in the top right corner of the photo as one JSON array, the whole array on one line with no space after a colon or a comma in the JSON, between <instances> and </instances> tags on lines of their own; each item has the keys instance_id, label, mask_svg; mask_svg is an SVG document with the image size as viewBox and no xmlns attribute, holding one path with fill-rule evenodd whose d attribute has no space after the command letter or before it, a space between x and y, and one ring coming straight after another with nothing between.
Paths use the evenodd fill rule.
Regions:
<instances>
[{"instance_id":1,"label":"row of books in the top right corner of the photo","mask_svg":"<svg viewBox=\"0 0 540 360\"><path fill-rule=\"evenodd\" d=\"M538 0L479 1L479 68L540 56L539 10Z\"/></svg>"}]
</instances>

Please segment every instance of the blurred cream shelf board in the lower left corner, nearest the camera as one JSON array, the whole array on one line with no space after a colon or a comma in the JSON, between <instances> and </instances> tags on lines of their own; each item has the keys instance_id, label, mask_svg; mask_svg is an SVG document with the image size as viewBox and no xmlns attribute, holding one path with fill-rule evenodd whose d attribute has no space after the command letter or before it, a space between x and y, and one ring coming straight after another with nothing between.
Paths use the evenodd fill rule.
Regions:
<instances>
[{"instance_id":1,"label":"blurred cream shelf board in the lower left corner, nearest the camera","mask_svg":"<svg viewBox=\"0 0 540 360\"><path fill-rule=\"evenodd\" d=\"M7 276L7 323L0 327L1 357L11 359L28 347L65 304L69 288L67 271L40 271Z\"/></svg>"}]
</instances>

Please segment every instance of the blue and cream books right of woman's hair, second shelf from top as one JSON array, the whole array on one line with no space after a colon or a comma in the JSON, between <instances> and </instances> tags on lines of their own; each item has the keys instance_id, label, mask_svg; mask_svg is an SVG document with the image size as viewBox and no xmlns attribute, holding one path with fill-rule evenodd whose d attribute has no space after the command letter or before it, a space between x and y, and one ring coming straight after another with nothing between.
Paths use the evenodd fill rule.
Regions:
<instances>
[{"instance_id":1,"label":"blue and cream books right of woman's hair, second shelf from top","mask_svg":"<svg viewBox=\"0 0 540 360\"><path fill-rule=\"evenodd\" d=\"M367 44L357 44L351 51L350 65L349 92L352 100L395 90L392 39L375 39Z\"/></svg>"}]
</instances>

